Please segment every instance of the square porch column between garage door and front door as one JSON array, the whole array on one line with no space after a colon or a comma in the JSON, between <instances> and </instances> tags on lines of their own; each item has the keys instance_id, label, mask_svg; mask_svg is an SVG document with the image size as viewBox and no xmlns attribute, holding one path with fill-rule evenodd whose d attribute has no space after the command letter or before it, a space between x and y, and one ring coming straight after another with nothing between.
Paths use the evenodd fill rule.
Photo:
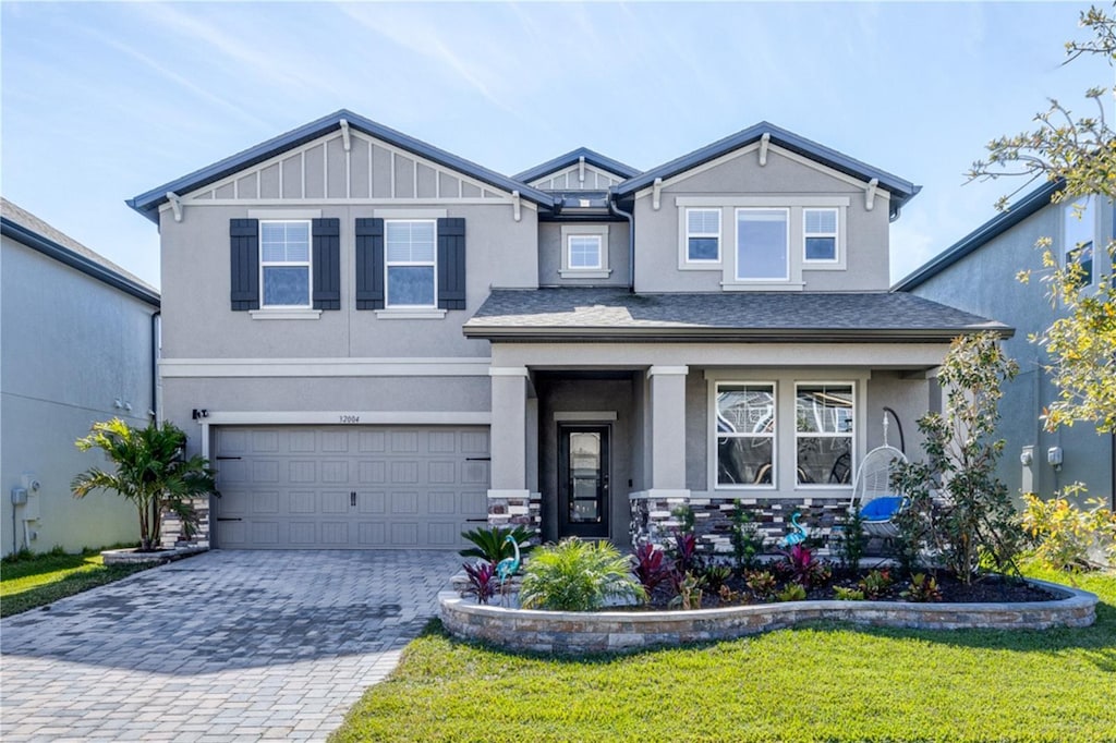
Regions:
<instances>
[{"instance_id":1,"label":"square porch column between garage door and front door","mask_svg":"<svg viewBox=\"0 0 1116 743\"><path fill-rule=\"evenodd\" d=\"M490 498L527 495L527 367L492 367Z\"/></svg>"}]
</instances>

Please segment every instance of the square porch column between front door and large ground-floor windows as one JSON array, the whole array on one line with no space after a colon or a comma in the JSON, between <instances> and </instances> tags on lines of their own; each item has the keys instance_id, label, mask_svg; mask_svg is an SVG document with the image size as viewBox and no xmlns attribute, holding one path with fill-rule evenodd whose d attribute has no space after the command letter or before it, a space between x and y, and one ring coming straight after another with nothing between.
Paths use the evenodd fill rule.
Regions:
<instances>
[{"instance_id":1,"label":"square porch column between front door and large ground-floor windows","mask_svg":"<svg viewBox=\"0 0 1116 743\"><path fill-rule=\"evenodd\" d=\"M685 366L653 366L651 385L651 482L656 496L685 498L686 490L686 374Z\"/></svg>"}]
</instances>

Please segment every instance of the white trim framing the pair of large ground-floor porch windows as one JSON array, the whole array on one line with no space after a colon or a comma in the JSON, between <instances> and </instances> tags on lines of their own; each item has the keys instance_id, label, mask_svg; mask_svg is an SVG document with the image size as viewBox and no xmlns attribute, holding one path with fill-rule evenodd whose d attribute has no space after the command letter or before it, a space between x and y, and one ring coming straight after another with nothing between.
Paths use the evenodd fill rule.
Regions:
<instances>
[{"instance_id":1,"label":"white trim framing the pair of large ground-floor porch windows","mask_svg":"<svg viewBox=\"0 0 1116 743\"><path fill-rule=\"evenodd\" d=\"M772 374L771 370L762 369L732 369L732 368L720 368L720 369L706 369L704 373L704 378L706 382L706 401L705 411L709 419L705 425L705 437L706 437L706 490L710 498L715 498L716 493L733 493L740 492L741 490L749 490L751 495L760 499L778 499L778 498L789 498L793 493L809 493L809 498L819 498L825 491L833 492L837 498L848 498L849 485L827 485L827 484L811 484L811 485L799 485L797 472L795 467L797 466L798 452L795 448L795 433L797 430L796 425L780 426L781 421L786 421L787 416L790 415L793 419L795 409L797 405L797 384L852 384L853 395L856 401L867 399L867 384L868 379L872 377L870 369L862 367L843 367L837 370L835 369L789 369L785 373ZM838 379L834 382L834 379ZM775 460L775 476L771 479L773 486L768 485L719 485L716 482L716 385L721 384L738 384L738 385L762 385L771 384L775 380L776 386L776 448L772 451L772 459ZM856 473L859 470L860 462L857 456L860 456L862 452L868 451L868 416L865 409L866 405L856 406L854 403L853 409L853 481L856 481ZM780 433L780 431L782 433ZM792 480L789 484L780 488L779 476L785 473L790 467L790 472L795 473ZM698 491L694 491L698 492Z\"/></svg>"}]
</instances>

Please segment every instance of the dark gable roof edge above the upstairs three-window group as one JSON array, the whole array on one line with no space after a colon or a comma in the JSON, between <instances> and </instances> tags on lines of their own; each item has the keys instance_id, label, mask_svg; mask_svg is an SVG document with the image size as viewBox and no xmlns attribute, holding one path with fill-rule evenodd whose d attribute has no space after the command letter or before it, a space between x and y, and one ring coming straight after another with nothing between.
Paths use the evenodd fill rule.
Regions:
<instances>
[{"instance_id":1,"label":"dark gable roof edge above the upstairs three-window group","mask_svg":"<svg viewBox=\"0 0 1116 743\"><path fill-rule=\"evenodd\" d=\"M760 122L759 124L750 126L747 129L737 132L733 135L714 142L711 145L706 145L701 149L695 149L689 155L683 155L682 157L672 160L668 163L660 165L658 167L653 167L650 171L645 171L641 175L625 181L617 186L617 195L629 195L641 189L646 189L652 185L655 182L655 178L663 178L665 181L666 178L679 175L680 173L684 173L685 171L698 167L699 165L708 163L711 160L727 155L734 149L759 142L764 134L770 135L770 141L780 147L785 147L804 157L809 157L815 162L826 165L827 167L831 167L840 173L845 173L846 175L850 175L862 181L879 178L879 187L892 194L892 211L897 211L898 208L910 201L912 196L922 190L922 186L917 186L910 181L898 177L897 175L892 175L891 173L882 171L878 167L873 167L858 160L843 155L836 149L830 149L825 145L818 144L817 142L811 142L806 137L800 137L793 132L779 128L775 124Z\"/></svg>"}]
</instances>

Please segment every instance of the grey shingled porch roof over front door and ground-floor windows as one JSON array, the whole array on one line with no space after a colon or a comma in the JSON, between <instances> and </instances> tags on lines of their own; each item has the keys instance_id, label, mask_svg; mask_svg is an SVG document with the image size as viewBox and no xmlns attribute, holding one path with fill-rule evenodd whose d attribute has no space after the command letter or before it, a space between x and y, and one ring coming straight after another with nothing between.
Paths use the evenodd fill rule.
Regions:
<instances>
[{"instance_id":1,"label":"grey shingled porch roof over front door and ground-floor windows","mask_svg":"<svg viewBox=\"0 0 1116 743\"><path fill-rule=\"evenodd\" d=\"M914 295L785 292L635 295L626 288L498 289L464 325L490 340L949 342L1013 330Z\"/></svg>"}]
</instances>

